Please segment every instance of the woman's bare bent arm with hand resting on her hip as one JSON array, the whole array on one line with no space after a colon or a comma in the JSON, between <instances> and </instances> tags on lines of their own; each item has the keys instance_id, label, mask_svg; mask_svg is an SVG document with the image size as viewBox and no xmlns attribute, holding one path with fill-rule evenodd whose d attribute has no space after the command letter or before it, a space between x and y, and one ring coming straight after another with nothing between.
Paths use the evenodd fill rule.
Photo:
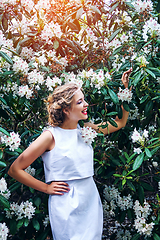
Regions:
<instances>
[{"instance_id":1,"label":"woman's bare bent arm with hand resting on her hip","mask_svg":"<svg viewBox=\"0 0 160 240\"><path fill-rule=\"evenodd\" d=\"M25 169L31 165L46 150L51 150L55 145L52 134L43 132L11 165L8 174L28 187L47 194L59 194L67 192L68 184L64 182L52 182L50 185L34 178Z\"/></svg>"}]
</instances>

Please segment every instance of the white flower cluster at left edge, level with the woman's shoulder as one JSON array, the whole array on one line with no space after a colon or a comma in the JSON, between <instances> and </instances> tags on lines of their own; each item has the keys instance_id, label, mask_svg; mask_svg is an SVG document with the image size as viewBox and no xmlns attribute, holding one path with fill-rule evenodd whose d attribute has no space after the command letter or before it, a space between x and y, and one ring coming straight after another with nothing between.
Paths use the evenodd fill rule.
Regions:
<instances>
[{"instance_id":1,"label":"white flower cluster at left edge, level with the woman's shoulder","mask_svg":"<svg viewBox=\"0 0 160 240\"><path fill-rule=\"evenodd\" d=\"M10 136L7 136L5 134L1 134L1 142L5 143L6 146L9 146L10 151L14 151L17 149L20 145L20 137L18 133L11 132Z\"/></svg>"}]
</instances>

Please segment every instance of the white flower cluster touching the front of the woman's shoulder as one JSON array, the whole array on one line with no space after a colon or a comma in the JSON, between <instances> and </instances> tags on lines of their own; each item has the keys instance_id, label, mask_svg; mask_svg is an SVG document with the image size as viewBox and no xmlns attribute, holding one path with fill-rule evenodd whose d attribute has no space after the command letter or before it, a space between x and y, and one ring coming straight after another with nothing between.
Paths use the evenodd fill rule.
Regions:
<instances>
[{"instance_id":1,"label":"white flower cluster touching the front of the woman's shoulder","mask_svg":"<svg viewBox=\"0 0 160 240\"><path fill-rule=\"evenodd\" d=\"M88 145L91 145L91 143L94 141L94 138L97 136L97 133L91 127L83 127L81 128L81 135L84 142Z\"/></svg>"}]
</instances>

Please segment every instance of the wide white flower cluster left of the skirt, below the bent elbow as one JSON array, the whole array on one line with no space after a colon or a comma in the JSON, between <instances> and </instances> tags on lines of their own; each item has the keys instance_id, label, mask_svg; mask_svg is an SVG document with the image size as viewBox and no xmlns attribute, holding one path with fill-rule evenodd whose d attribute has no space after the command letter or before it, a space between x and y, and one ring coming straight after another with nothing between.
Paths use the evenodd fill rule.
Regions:
<instances>
[{"instance_id":1,"label":"wide white flower cluster left of the skirt, below the bent elbow","mask_svg":"<svg viewBox=\"0 0 160 240\"><path fill-rule=\"evenodd\" d=\"M29 201L22 202L20 205L13 202L10 204L10 209L6 210L6 217L12 219L15 216L17 220L22 218L28 218L30 220L35 214L35 209L33 203Z\"/></svg>"}]
</instances>

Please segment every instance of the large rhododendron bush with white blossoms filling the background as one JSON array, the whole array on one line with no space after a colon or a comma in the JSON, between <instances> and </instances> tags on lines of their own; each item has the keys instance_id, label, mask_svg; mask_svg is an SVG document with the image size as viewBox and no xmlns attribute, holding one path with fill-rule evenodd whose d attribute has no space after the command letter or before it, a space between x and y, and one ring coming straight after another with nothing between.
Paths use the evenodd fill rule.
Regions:
<instances>
[{"instance_id":1,"label":"large rhododendron bush with white blossoms filling the background","mask_svg":"<svg viewBox=\"0 0 160 240\"><path fill-rule=\"evenodd\" d=\"M89 121L116 127L121 105L129 111L126 126L107 136L80 122L95 152L104 223L114 222L103 239L160 239L159 12L151 0L0 2L0 239L52 239L48 196L7 170L47 127L49 93L70 81L84 89ZM41 158L25 171L44 181Z\"/></svg>"}]
</instances>

